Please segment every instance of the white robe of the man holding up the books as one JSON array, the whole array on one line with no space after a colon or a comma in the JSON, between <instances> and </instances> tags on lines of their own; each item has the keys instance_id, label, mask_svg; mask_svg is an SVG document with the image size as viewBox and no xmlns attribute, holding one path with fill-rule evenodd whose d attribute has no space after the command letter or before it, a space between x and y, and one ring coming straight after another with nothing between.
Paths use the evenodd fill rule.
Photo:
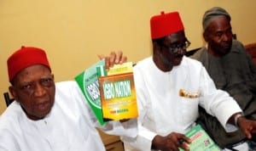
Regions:
<instances>
[{"instance_id":1,"label":"white robe of the man holding up the books","mask_svg":"<svg viewBox=\"0 0 256 151\"><path fill-rule=\"evenodd\" d=\"M95 128L96 117L76 82L55 86L55 104L43 120L29 120L17 102L9 105L0 119L1 151L105 150ZM115 133L125 130L119 122L115 125L119 129ZM113 126L107 128L111 130ZM132 136L137 130L131 128L128 133Z\"/></svg>"}]
</instances>

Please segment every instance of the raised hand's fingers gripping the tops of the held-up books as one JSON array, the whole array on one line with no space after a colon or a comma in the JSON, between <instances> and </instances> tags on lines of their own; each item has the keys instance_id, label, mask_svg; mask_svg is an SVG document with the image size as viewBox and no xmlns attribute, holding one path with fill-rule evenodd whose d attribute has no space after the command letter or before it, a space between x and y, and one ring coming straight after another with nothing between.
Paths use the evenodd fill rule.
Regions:
<instances>
[{"instance_id":1,"label":"raised hand's fingers gripping the tops of the held-up books","mask_svg":"<svg viewBox=\"0 0 256 151\"><path fill-rule=\"evenodd\" d=\"M123 55L123 52L111 52L109 56L105 56L102 54L98 55L99 59L105 59L106 69L108 70L110 67L113 67L113 64L123 64L127 61L127 57Z\"/></svg>"}]
</instances>

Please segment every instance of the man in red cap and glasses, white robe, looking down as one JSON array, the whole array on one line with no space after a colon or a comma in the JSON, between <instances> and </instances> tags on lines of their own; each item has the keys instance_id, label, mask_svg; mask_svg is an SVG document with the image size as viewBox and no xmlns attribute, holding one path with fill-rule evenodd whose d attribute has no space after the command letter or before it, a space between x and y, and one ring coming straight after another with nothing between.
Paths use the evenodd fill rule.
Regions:
<instances>
[{"instance_id":1,"label":"man in red cap and glasses, white robe, looking down","mask_svg":"<svg viewBox=\"0 0 256 151\"><path fill-rule=\"evenodd\" d=\"M134 67L138 135L122 137L125 150L189 150L191 140L183 134L195 126L199 106L216 116L226 131L239 125L252 137L256 122L241 117L239 105L216 89L202 64L184 56L190 42L179 14L155 15L150 25L153 56Z\"/></svg>"}]
</instances>

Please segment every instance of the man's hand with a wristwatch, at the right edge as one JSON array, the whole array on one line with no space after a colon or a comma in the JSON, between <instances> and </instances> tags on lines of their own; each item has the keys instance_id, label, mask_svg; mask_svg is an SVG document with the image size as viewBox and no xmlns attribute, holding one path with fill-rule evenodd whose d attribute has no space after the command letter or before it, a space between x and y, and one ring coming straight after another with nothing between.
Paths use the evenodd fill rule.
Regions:
<instances>
[{"instance_id":1,"label":"man's hand with a wristwatch, at the right edge","mask_svg":"<svg viewBox=\"0 0 256 151\"><path fill-rule=\"evenodd\" d=\"M252 134L256 134L256 120L247 120L241 116L237 119L237 124L248 139L252 138Z\"/></svg>"}]
</instances>

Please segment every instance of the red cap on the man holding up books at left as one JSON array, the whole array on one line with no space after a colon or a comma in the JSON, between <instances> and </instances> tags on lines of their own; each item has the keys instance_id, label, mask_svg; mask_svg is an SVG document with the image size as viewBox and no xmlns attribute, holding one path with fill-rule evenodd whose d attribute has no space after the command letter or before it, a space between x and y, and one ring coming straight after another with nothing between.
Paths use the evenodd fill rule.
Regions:
<instances>
[{"instance_id":1,"label":"red cap on the man holding up books at left","mask_svg":"<svg viewBox=\"0 0 256 151\"><path fill-rule=\"evenodd\" d=\"M26 48L22 46L7 60L9 81L12 81L20 70L23 70L33 64L44 64L45 66L49 67L46 53L40 48Z\"/></svg>"}]
</instances>

